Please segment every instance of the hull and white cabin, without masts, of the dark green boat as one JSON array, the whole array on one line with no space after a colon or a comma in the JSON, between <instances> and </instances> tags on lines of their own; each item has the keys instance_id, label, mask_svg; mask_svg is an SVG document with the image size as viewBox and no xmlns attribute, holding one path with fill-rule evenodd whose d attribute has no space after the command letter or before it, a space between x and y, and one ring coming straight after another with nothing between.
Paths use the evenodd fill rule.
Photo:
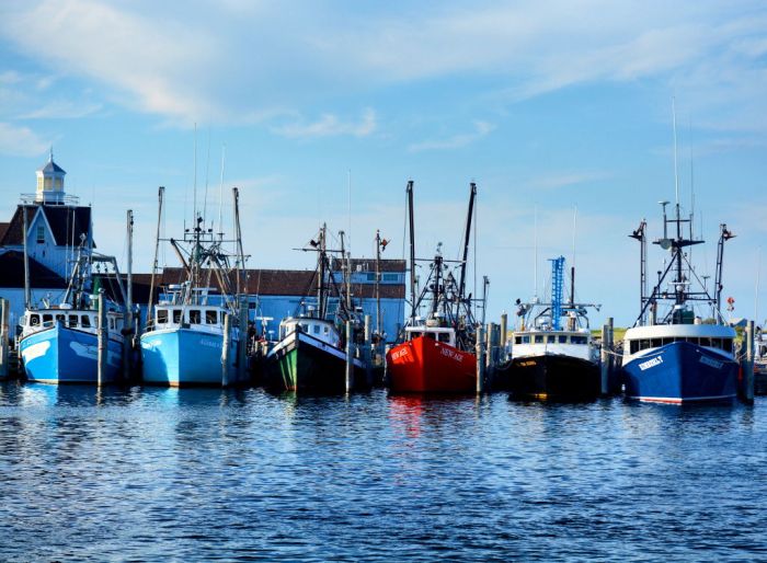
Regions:
<instances>
[{"instance_id":1,"label":"hull and white cabin, without masts, of the dark green boat","mask_svg":"<svg viewBox=\"0 0 767 563\"><path fill-rule=\"evenodd\" d=\"M365 380L365 365L353 358L354 380ZM273 389L336 393L346 389L346 352L335 325L311 317L279 323L279 342L266 356L266 383Z\"/></svg>"}]
</instances>

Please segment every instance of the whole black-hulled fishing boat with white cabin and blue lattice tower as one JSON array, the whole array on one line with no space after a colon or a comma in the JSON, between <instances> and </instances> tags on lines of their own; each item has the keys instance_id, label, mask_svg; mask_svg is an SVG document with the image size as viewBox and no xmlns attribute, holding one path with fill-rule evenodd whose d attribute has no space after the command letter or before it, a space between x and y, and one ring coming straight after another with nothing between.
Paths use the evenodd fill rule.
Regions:
<instances>
[{"instance_id":1,"label":"whole black-hulled fishing boat with white cabin and blue lattice tower","mask_svg":"<svg viewBox=\"0 0 767 563\"><path fill-rule=\"evenodd\" d=\"M516 397L572 400L599 394L599 354L586 314L587 308L599 306L575 302L575 268L570 299L563 302L563 274L564 257L551 260L551 302L517 299L519 329L512 334L511 361L500 374Z\"/></svg>"}]
</instances>

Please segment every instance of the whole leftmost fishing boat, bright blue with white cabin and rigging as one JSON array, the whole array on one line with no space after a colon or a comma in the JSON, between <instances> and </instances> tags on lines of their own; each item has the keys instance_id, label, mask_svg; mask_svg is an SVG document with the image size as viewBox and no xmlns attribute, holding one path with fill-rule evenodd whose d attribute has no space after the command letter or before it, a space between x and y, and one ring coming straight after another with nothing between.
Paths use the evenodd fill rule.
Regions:
<instances>
[{"instance_id":1,"label":"whole leftmost fishing boat, bright blue with white cabin and rigging","mask_svg":"<svg viewBox=\"0 0 767 563\"><path fill-rule=\"evenodd\" d=\"M92 278L93 264L114 268L125 292L114 257L83 252L82 245L67 290L57 305L27 307L20 318L19 353L28 381L43 383L99 382L99 280ZM125 300L123 301L125 302ZM122 377L124 310L102 298L105 331L101 383L114 383Z\"/></svg>"}]
</instances>

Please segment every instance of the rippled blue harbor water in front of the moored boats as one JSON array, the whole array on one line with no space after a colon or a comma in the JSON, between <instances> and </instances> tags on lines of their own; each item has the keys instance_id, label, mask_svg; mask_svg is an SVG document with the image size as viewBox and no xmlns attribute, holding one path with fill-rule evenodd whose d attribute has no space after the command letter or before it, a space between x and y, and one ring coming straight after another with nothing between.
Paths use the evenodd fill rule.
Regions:
<instances>
[{"instance_id":1,"label":"rippled blue harbor water in front of the moored boats","mask_svg":"<svg viewBox=\"0 0 767 563\"><path fill-rule=\"evenodd\" d=\"M0 384L0 560L764 560L767 401Z\"/></svg>"}]
</instances>

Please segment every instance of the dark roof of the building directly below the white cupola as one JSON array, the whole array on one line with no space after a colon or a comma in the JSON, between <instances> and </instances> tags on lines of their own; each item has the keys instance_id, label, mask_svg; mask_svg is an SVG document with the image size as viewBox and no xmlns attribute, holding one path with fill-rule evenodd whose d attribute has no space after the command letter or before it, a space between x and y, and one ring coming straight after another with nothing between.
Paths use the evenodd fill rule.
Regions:
<instances>
[{"instance_id":1,"label":"dark roof of the building directly below the white cupola","mask_svg":"<svg viewBox=\"0 0 767 563\"><path fill-rule=\"evenodd\" d=\"M54 233L54 241L59 246L80 244L80 234L88 237L91 228L91 208L90 207L70 207L64 205L20 205L8 223L5 232L0 238L0 246L21 245L24 243L24 216L22 210L26 210L26 223L32 223L32 220L41 209L45 214L50 230ZM95 245L94 245L95 246Z\"/></svg>"}]
</instances>

